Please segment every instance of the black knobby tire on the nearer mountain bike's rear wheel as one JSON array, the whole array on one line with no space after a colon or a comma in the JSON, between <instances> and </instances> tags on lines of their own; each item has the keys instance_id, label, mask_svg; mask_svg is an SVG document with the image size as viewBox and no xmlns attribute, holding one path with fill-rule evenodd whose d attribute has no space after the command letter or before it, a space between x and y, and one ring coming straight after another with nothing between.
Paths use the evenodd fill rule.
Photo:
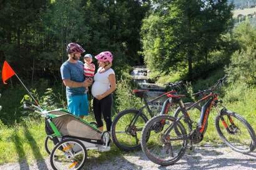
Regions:
<instances>
[{"instance_id":1,"label":"black knobby tire on the nearer mountain bike's rear wheel","mask_svg":"<svg viewBox=\"0 0 256 170\"><path fill-rule=\"evenodd\" d=\"M165 121L166 120L175 121L176 118L174 118L173 116L170 116L170 115L154 116L154 118L152 118L149 121L147 121L145 127L143 128L142 136L141 136L140 141L141 141L142 151L144 152L145 156L147 156L147 158L149 158L150 161L152 161L155 164L159 164L159 165L162 165L162 166L167 166L167 165L175 164L177 161L179 161L180 158L182 158L182 156L184 156L185 151L187 149L188 139L185 139L185 138L183 139L183 143L182 143L182 146L180 148L180 151L177 154L177 156L175 156L175 158L172 158L170 160L164 160L164 159L156 158L153 154L150 153L150 148L147 147L147 143L151 142L150 141L150 136L148 136L148 134L151 131L150 128L152 128L152 126L154 126L154 123L162 121L162 120L165 120ZM177 122L177 126L179 126L182 135L187 135L187 132L186 132L184 126L182 125L182 123L180 121ZM157 133L155 133L155 134L157 134ZM174 135L176 135L175 132L174 132ZM148 140L147 138L149 138L148 142L147 142L147 140ZM157 137L157 139L160 139L159 136ZM154 142L154 139L153 139L153 142ZM172 141L172 143L175 143L175 141ZM158 144L158 145L161 146L161 144ZM162 147L164 147L164 144L162 145ZM170 147L170 148L172 148L172 147ZM158 149L152 149L152 150L155 151L155 150L158 150ZM171 153L172 153L172 151L171 151ZM166 154L169 155L169 153L166 153ZM161 154L159 154L159 155L161 155Z\"/></svg>"}]
</instances>

